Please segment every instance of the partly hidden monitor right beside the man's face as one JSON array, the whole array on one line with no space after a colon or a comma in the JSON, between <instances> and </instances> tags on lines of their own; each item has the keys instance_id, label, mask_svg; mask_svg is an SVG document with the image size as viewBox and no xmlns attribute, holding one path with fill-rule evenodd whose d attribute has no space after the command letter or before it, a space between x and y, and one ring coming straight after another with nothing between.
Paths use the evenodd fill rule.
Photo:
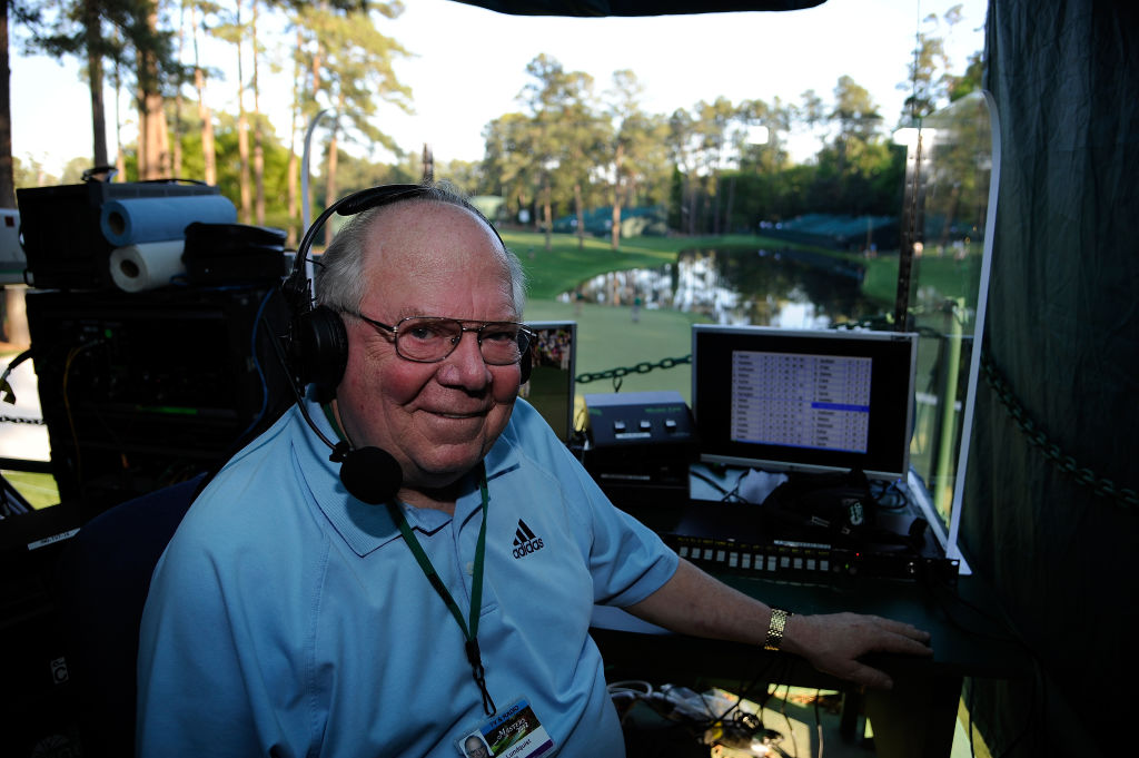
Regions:
<instances>
[{"instance_id":1,"label":"partly hidden monitor right beside the man's face","mask_svg":"<svg viewBox=\"0 0 1139 758\"><path fill-rule=\"evenodd\" d=\"M522 386L525 398L563 442L573 437L574 370L577 358L576 321L527 321L536 334L530 348L533 369Z\"/></svg>"}]
</instances>

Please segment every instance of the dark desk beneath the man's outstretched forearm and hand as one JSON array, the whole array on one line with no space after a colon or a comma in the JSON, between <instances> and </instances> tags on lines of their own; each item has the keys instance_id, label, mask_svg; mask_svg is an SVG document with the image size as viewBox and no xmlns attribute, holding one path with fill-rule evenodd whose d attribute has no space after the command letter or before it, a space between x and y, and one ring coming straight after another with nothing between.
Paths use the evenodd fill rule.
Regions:
<instances>
[{"instance_id":1,"label":"dark desk beneath the man's outstretched forearm and hand","mask_svg":"<svg viewBox=\"0 0 1139 758\"><path fill-rule=\"evenodd\" d=\"M893 690L868 690L861 701L874 725L875 750L880 758L948 757L962 679L1018 678L1029 673L1027 661L1015 644L993 638L1001 634L1003 622L975 577L961 577L952 594L915 582L868 578L830 586L721 578L745 594L796 613L874 613L908 621L933 635L932 658L867 659L894 679ZM761 693L762 684L772 682L845 691L846 708L852 703L850 695L858 702L859 693L851 685L819 674L795 655L673 635L618 610L599 609L592 634L612 678L672 684L720 680L729 690L734 684L757 680Z\"/></svg>"}]
</instances>

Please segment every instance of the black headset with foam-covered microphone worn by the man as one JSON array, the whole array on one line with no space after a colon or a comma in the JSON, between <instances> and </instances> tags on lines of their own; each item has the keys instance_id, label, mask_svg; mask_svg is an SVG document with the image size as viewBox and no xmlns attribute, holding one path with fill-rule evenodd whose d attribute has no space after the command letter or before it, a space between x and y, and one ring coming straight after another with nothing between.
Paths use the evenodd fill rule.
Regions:
<instances>
[{"instance_id":1,"label":"black headset with foam-covered microphone worn by the man","mask_svg":"<svg viewBox=\"0 0 1139 758\"><path fill-rule=\"evenodd\" d=\"M293 271L281 284L281 294L292 313L289 331L285 337L286 354L281 358L293 375L290 386L296 394L297 407L317 437L331 448L329 460L341 464L341 481L344 488L354 497L372 505L386 503L399 491L403 483L403 472L392 454L386 450L377 447L354 448L344 440L333 442L309 416L302 397L303 389L308 384L314 384L317 398L321 402L335 397L336 388L349 362L349 339L344 320L338 312L328 305L313 307L312 282L305 268L313 241L334 213L355 215L401 201L429 198L436 191L429 185L383 185L342 197L329 205L309 227L296 250ZM469 205L462 207L474 211L506 250L498 230L477 209ZM531 367L531 357L523 356L521 362L523 383L530 378Z\"/></svg>"}]
</instances>

